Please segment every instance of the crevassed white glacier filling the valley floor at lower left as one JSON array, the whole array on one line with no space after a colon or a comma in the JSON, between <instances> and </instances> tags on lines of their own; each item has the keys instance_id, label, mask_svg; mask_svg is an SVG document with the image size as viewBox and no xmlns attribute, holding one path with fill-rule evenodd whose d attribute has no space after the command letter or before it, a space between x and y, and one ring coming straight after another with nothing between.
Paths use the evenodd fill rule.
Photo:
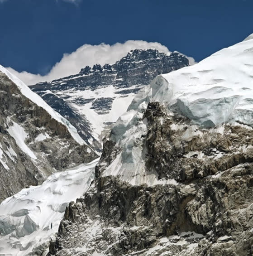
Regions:
<instances>
[{"instance_id":1,"label":"crevassed white glacier filling the valley floor at lower left","mask_svg":"<svg viewBox=\"0 0 253 256\"><path fill-rule=\"evenodd\" d=\"M0 255L24 256L43 242L49 242L68 203L80 198L89 188L97 162L95 159L52 174L42 185L24 188L5 199L0 204ZM3 235L2 229L7 227L13 231Z\"/></svg>"}]
</instances>

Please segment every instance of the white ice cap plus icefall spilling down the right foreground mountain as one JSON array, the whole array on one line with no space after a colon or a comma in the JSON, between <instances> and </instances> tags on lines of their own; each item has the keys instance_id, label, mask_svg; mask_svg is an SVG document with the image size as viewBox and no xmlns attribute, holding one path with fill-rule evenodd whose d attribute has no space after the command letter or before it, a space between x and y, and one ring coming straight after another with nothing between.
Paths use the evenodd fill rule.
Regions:
<instances>
[{"instance_id":1,"label":"white ice cap plus icefall spilling down the right foreground mountain","mask_svg":"<svg viewBox=\"0 0 253 256\"><path fill-rule=\"evenodd\" d=\"M141 138L147 127L143 112L151 101L159 101L171 113L181 113L193 125L220 125L220 132L225 122L253 126L253 37L193 66L160 75L139 91L112 128L111 139L122 151L105 169L104 176L117 175L133 185L177 184L174 180L158 180L155 172L145 170Z\"/></svg>"}]
</instances>

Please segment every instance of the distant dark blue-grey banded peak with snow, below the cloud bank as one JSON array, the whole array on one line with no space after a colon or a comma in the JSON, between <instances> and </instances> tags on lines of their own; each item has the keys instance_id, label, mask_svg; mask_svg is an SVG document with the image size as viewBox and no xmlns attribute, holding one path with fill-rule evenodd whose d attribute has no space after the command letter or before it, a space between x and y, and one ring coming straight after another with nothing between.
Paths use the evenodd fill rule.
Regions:
<instances>
[{"instance_id":1,"label":"distant dark blue-grey banded peak with snow, below the cloud bank","mask_svg":"<svg viewBox=\"0 0 253 256\"><path fill-rule=\"evenodd\" d=\"M177 52L168 56L153 49L136 49L113 65L105 64L101 67L96 64L93 68L85 67L79 74L50 83L38 83L30 88L69 120L88 145L100 151L102 140L92 132L95 124L87 117L84 106L87 106L88 110L94 110L101 119L101 115L108 114L112 107L119 107L113 106L115 99L124 97L133 99L136 92L148 85L158 74L168 73L188 65L188 59ZM111 92L103 96L106 88L111 86L113 87ZM126 110L128 104L121 102L120 108ZM119 114L114 115L117 115L115 119L119 117Z\"/></svg>"}]
</instances>

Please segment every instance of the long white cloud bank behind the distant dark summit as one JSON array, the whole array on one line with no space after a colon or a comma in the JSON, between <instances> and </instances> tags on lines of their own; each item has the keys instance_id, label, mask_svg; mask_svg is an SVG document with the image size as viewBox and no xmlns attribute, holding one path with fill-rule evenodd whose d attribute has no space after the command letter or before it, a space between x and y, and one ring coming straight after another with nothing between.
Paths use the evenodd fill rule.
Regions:
<instances>
[{"instance_id":1,"label":"long white cloud bank behind the distant dark summit","mask_svg":"<svg viewBox=\"0 0 253 256\"><path fill-rule=\"evenodd\" d=\"M113 45L101 43L99 45L84 44L75 52L70 54L64 53L62 59L56 63L50 72L41 76L40 74L32 74L26 71L17 72L13 68L7 68L15 76L19 77L27 85L37 82L52 81L53 79L66 77L80 72L85 66L93 66L96 63L104 65L105 63L113 64L120 58L124 57L133 49L158 49L161 52L169 52L169 49L156 42L146 42L141 40L129 40L125 43L115 43Z\"/></svg>"}]
</instances>

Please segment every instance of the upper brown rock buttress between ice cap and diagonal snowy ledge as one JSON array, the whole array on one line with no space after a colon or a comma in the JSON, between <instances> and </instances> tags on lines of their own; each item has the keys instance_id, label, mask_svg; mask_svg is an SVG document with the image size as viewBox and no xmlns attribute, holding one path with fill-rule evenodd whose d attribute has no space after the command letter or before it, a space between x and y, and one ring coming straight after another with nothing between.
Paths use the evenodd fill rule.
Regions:
<instances>
[{"instance_id":1,"label":"upper brown rock buttress between ice cap and diagonal snowy ledge","mask_svg":"<svg viewBox=\"0 0 253 256\"><path fill-rule=\"evenodd\" d=\"M145 113L148 122L153 124L146 140L146 169L155 169L159 179L188 182L238 164L253 162L253 149L249 147L253 130L225 124L222 133L213 132L210 137L208 130L189 126L190 122L181 116L176 120L163 118L164 112L165 109L158 102L153 102ZM162 126L158 122L160 118L163 120ZM181 129L173 129L175 121L181 124ZM191 140L187 137L178 140L187 133L195 135L190 137ZM243 152L238 150L243 147L246 147Z\"/></svg>"}]
</instances>

